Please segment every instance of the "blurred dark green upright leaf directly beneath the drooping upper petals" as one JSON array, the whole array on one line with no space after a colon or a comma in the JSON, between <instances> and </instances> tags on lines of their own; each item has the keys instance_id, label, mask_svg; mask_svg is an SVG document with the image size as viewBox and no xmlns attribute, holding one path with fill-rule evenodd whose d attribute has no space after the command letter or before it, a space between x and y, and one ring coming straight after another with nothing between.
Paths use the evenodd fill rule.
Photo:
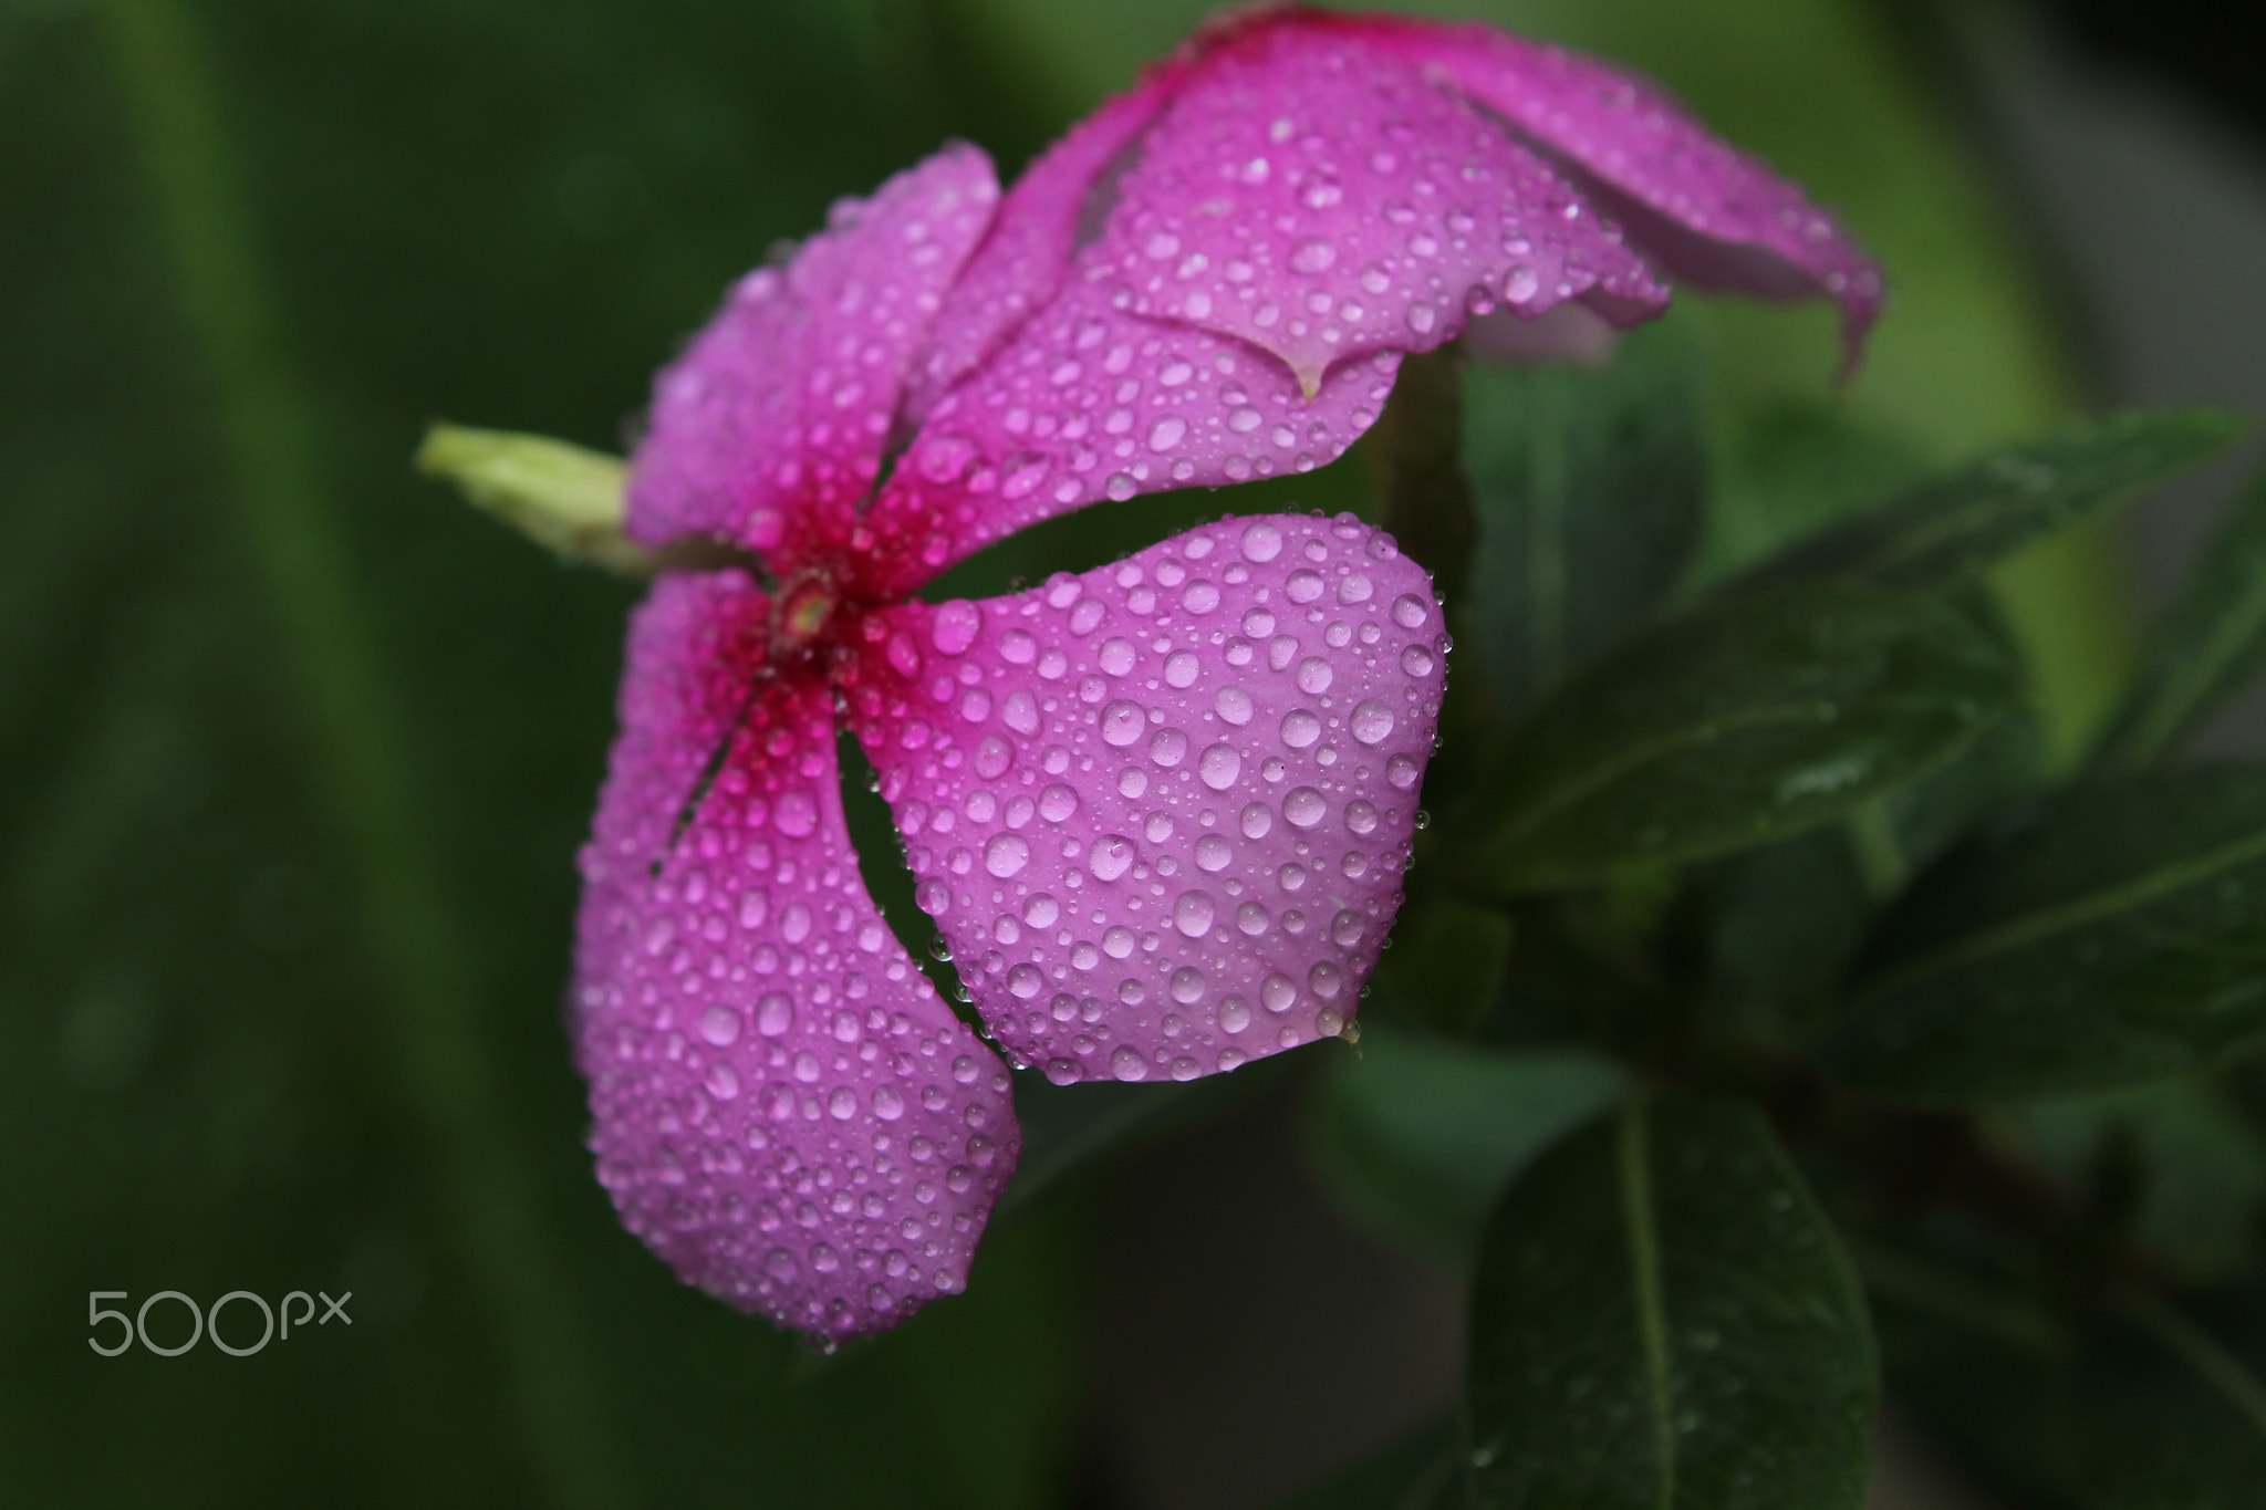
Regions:
<instances>
[{"instance_id":1,"label":"blurred dark green upright leaf directly beneath the drooping upper petals","mask_svg":"<svg viewBox=\"0 0 2266 1510\"><path fill-rule=\"evenodd\" d=\"M1473 362L1464 469L1480 516L1466 623L1516 711L1645 618L1693 555L1706 448L1684 331L1641 331L1602 369Z\"/></svg>"}]
</instances>

